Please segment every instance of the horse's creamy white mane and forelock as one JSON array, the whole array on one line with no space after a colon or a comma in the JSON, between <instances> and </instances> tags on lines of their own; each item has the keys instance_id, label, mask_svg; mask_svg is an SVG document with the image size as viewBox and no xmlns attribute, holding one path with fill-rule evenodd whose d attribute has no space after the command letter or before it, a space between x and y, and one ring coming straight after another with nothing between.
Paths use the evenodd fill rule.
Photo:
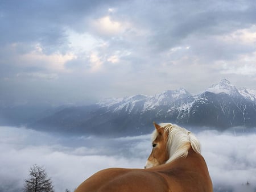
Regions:
<instances>
[{"instance_id":1,"label":"horse's creamy white mane and forelock","mask_svg":"<svg viewBox=\"0 0 256 192\"><path fill-rule=\"evenodd\" d=\"M179 157L187 157L190 147L200 154L200 143L190 131L171 123L160 123L159 126L164 128L164 131L169 132L167 146L170 156L167 162ZM156 139L158 134L156 130L152 133L152 141Z\"/></svg>"}]
</instances>

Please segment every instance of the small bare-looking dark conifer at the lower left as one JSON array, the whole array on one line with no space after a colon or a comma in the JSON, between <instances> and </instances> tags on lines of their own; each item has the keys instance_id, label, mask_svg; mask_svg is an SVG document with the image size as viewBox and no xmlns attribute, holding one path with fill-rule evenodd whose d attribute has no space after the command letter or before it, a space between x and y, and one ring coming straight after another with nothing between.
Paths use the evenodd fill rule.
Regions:
<instances>
[{"instance_id":1,"label":"small bare-looking dark conifer at the lower left","mask_svg":"<svg viewBox=\"0 0 256 192\"><path fill-rule=\"evenodd\" d=\"M33 165L30 168L30 178L24 180L24 191L26 192L53 192L53 185L50 178L48 178L46 170L42 166Z\"/></svg>"}]
</instances>

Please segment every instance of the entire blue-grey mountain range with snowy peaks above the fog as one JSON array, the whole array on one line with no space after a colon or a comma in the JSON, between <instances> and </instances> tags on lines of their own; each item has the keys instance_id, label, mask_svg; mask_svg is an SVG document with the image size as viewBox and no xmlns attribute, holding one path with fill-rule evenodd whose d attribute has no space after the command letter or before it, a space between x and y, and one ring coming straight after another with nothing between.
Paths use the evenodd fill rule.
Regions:
<instances>
[{"instance_id":1,"label":"entire blue-grey mountain range with snowy peaks above the fog","mask_svg":"<svg viewBox=\"0 0 256 192\"><path fill-rule=\"evenodd\" d=\"M153 96L134 95L90 106L62 107L27 126L79 135L127 136L151 132L154 121L219 130L256 127L256 91L237 89L224 79L198 95L180 88Z\"/></svg>"}]
</instances>

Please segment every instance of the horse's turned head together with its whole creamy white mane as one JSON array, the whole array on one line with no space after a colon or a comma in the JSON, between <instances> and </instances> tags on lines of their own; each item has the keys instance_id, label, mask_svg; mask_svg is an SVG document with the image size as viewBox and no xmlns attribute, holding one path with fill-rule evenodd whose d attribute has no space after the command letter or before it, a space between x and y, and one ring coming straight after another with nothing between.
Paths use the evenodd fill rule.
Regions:
<instances>
[{"instance_id":1,"label":"horse's turned head together with its whole creamy white mane","mask_svg":"<svg viewBox=\"0 0 256 192\"><path fill-rule=\"evenodd\" d=\"M145 168L166 164L179 157L187 157L188 150L200 153L200 143L196 137L185 128L171 123L154 123L152 133L152 152L147 159Z\"/></svg>"}]
</instances>

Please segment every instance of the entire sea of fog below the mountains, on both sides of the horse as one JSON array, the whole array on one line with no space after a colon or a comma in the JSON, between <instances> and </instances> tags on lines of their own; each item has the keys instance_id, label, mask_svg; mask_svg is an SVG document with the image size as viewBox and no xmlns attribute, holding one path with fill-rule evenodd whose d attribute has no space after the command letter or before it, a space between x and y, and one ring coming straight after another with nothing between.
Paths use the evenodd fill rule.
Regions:
<instances>
[{"instance_id":1,"label":"entire sea of fog below the mountains, on both sides of the horse","mask_svg":"<svg viewBox=\"0 0 256 192\"><path fill-rule=\"evenodd\" d=\"M195 135L215 191L255 191L256 132L200 131ZM55 191L73 191L104 168L143 168L150 152L150 135L108 139L0 127L0 191L22 191L34 164L43 166Z\"/></svg>"}]
</instances>

